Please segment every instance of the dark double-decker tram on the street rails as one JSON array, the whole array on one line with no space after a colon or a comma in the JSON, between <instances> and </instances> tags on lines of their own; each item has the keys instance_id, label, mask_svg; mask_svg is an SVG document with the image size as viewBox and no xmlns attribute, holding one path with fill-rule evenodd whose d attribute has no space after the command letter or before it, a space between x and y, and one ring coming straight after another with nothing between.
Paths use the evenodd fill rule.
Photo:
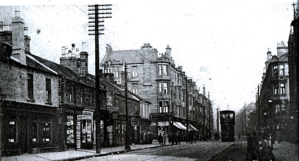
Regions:
<instances>
[{"instance_id":1,"label":"dark double-decker tram on the street rails","mask_svg":"<svg viewBox=\"0 0 299 161\"><path fill-rule=\"evenodd\" d=\"M235 141L235 111L220 111L221 140Z\"/></svg>"}]
</instances>

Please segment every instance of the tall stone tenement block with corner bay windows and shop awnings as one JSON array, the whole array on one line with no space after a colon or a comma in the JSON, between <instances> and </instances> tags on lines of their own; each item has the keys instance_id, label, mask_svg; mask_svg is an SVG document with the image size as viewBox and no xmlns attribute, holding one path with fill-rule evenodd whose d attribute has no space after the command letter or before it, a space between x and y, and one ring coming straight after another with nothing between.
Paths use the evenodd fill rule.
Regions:
<instances>
[{"instance_id":1,"label":"tall stone tenement block with corner bay windows and shop awnings","mask_svg":"<svg viewBox=\"0 0 299 161\"><path fill-rule=\"evenodd\" d=\"M164 54L160 54L150 43L145 43L139 50L124 51L113 51L107 44L101 68L112 70L113 79L118 84L123 81L120 73L125 64L128 66L128 90L152 103L150 131L154 135L186 131L186 103L188 129L202 129L202 132L208 129L207 112L212 110L208 110L205 91L200 95L195 82L186 80L182 66L174 64L169 46Z\"/></svg>"}]
</instances>

